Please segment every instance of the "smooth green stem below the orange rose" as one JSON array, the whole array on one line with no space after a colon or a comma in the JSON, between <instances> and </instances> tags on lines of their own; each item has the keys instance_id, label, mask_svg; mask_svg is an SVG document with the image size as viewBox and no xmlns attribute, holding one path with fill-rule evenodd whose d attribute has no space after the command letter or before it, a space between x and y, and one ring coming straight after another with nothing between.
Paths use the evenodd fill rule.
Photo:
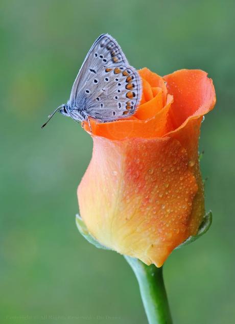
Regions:
<instances>
[{"instance_id":1,"label":"smooth green stem below the orange rose","mask_svg":"<svg viewBox=\"0 0 235 324\"><path fill-rule=\"evenodd\" d=\"M149 324L172 324L162 267L147 266L138 259L125 256L139 284Z\"/></svg>"}]
</instances>

